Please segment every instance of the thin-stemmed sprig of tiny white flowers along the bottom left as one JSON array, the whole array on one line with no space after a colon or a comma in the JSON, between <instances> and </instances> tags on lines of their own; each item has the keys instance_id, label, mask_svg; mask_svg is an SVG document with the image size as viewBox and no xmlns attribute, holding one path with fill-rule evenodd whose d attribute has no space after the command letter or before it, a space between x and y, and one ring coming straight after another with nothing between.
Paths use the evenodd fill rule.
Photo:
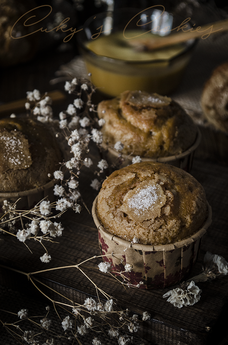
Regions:
<instances>
[{"instance_id":1,"label":"thin-stemmed sprig of tiny white flowers along the bottom left","mask_svg":"<svg viewBox=\"0 0 228 345\"><path fill-rule=\"evenodd\" d=\"M83 264L92 259L100 257L102 256L94 256L76 265L55 267L30 273L22 272L0 265L1 267L26 275L28 277L28 280L31 281L33 285L37 287L39 291L48 298L57 312L60 328L64 333L62 334L61 332L59 332L59 334L56 334L52 330L52 319L50 316L48 317L50 307L46 308L48 311L46 316L39 317L38 321L36 322L33 321L31 317L28 317L29 311L27 309L21 309L17 314L20 321L16 321L15 323L10 324L2 323L3 326L7 328L8 331L10 327L14 327L18 331L17 337L19 339L21 338L21 340L26 341L28 344L38 344L37 336L40 336L43 333L44 337L48 337L48 332L50 332L50 337L48 337L48 339L52 339L53 343L49 343L47 340L47 344L55 344L55 339L61 338L72 341L72 344L74 344L75 341L77 341L78 344L83 344L83 339L87 335L91 337L91 334L93 335L92 344L94 345L104 344L103 340L107 341L109 337L116 340L116 344L118 345L130 344L132 341L130 335L133 333L137 333L140 328L140 323L149 320L151 318L151 315L148 312L143 312L142 315L137 315L129 312L128 309L119 308L118 301L115 300L112 296L108 295L95 282L91 280L91 278L83 269ZM99 264L98 266L99 268L102 267L101 264ZM36 275L42 272L50 272L52 270L58 269L79 270L94 285L97 296L87 297L83 303L78 303L55 291L57 295L60 295L60 300L58 301L57 298L53 300L47 294L47 292L44 293L42 291L42 285L45 284L38 278L36 278ZM41 287L38 287L40 285ZM47 285L45 286L48 287ZM53 289L51 290L53 291ZM64 300L66 302L64 302ZM18 327L18 322L21 323L25 320L32 322L36 327L36 331L23 331L21 326ZM37 330L39 330L39 332L37 332Z\"/></svg>"}]
</instances>

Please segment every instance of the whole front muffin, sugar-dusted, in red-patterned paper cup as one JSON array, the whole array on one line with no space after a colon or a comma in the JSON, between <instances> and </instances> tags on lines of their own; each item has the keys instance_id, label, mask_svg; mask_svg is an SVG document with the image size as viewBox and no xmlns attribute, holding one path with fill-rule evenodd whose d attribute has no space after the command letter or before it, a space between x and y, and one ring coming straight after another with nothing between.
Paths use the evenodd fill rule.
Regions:
<instances>
[{"instance_id":1,"label":"whole front muffin, sugar-dusted, in red-patterned paper cup","mask_svg":"<svg viewBox=\"0 0 228 345\"><path fill-rule=\"evenodd\" d=\"M102 255L116 275L133 286L163 288L190 272L211 209L203 187L189 173L141 162L106 178L93 217ZM132 266L126 272L127 263Z\"/></svg>"}]
</instances>

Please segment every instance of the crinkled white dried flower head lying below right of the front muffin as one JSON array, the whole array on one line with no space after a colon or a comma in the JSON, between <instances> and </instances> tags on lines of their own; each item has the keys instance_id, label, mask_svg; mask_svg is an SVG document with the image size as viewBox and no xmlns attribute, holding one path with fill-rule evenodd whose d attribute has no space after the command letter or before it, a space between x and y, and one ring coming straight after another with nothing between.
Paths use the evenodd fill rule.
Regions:
<instances>
[{"instance_id":1,"label":"crinkled white dried flower head lying below right of the front muffin","mask_svg":"<svg viewBox=\"0 0 228 345\"><path fill-rule=\"evenodd\" d=\"M174 307L182 308L183 306L193 305L198 302L201 292L202 290L192 280L185 290L177 287L165 293L163 298L169 297L168 302L173 304Z\"/></svg>"}]
</instances>

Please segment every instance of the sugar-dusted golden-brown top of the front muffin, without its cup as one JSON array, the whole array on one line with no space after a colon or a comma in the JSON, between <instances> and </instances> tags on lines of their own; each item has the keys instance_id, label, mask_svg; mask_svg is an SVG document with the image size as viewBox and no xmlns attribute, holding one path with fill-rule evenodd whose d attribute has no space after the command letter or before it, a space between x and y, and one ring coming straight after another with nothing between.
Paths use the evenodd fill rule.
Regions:
<instances>
[{"instance_id":1,"label":"sugar-dusted golden-brown top of the front muffin, without its cup","mask_svg":"<svg viewBox=\"0 0 228 345\"><path fill-rule=\"evenodd\" d=\"M167 245L190 237L207 218L201 184L164 163L141 162L115 171L98 194L104 228L126 241Z\"/></svg>"}]
</instances>

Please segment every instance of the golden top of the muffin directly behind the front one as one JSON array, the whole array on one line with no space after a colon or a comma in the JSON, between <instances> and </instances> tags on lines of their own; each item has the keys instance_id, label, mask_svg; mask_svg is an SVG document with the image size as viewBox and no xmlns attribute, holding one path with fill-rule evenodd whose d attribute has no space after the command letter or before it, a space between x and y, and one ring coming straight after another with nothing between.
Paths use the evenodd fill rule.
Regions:
<instances>
[{"instance_id":1,"label":"golden top of the muffin directly behind the front one","mask_svg":"<svg viewBox=\"0 0 228 345\"><path fill-rule=\"evenodd\" d=\"M124 91L98 104L104 118L104 143L124 144L123 153L145 158L178 155L193 145L197 127L170 97L145 91Z\"/></svg>"}]
</instances>

